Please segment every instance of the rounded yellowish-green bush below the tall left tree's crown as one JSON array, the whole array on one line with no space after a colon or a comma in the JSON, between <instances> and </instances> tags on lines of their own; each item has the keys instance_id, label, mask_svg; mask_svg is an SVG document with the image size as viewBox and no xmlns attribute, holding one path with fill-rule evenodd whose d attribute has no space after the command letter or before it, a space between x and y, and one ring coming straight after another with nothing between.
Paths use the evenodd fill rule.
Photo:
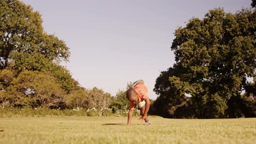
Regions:
<instances>
[{"instance_id":1,"label":"rounded yellowish-green bush below the tall left tree's crown","mask_svg":"<svg viewBox=\"0 0 256 144\"><path fill-rule=\"evenodd\" d=\"M6 89L4 98L11 106L65 107L65 92L53 76L39 71L22 71Z\"/></svg>"}]
</instances>

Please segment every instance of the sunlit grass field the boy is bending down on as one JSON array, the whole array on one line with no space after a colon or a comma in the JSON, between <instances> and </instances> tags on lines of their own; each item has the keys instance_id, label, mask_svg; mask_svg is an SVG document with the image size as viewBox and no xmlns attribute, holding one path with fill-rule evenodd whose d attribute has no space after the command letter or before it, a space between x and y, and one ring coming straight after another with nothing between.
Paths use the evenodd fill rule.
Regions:
<instances>
[{"instance_id":1,"label":"sunlit grass field the boy is bending down on","mask_svg":"<svg viewBox=\"0 0 256 144\"><path fill-rule=\"evenodd\" d=\"M0 118L0 143L255 143L256 118Z\"/></svg>"}]
</instances>

